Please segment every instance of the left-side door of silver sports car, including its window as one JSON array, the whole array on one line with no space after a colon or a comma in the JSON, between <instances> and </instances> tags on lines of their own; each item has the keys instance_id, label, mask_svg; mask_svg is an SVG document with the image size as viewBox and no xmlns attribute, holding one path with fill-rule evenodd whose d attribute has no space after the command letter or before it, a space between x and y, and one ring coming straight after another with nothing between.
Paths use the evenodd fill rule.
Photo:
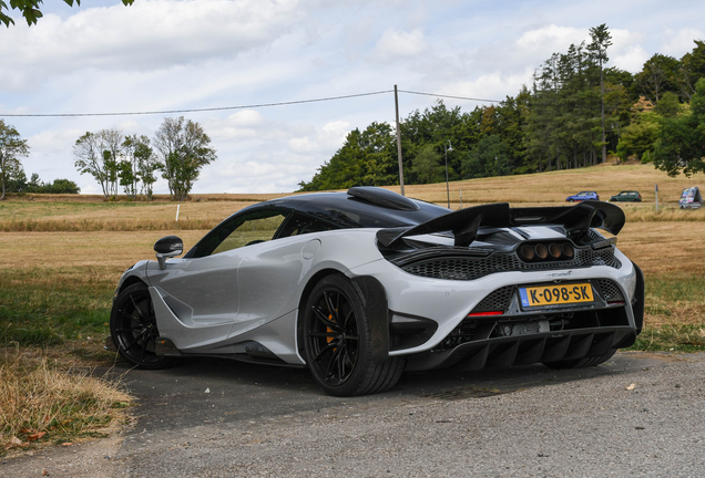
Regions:
<instances>
[{"instance_id":1,"label":"left-side door of silver sports car, including its window","mask_svg":"<svg viewBox=\"0 0 705 478\"><path fill-rule=\"evenodd\" d=\"M238 267L252 248L275 236L287 215L274 208L232 216L183 259L168 260L166 269L151 262L151 285L186 328L211 326L227 335L239 309Z\"/></svg>"}]
</instances>

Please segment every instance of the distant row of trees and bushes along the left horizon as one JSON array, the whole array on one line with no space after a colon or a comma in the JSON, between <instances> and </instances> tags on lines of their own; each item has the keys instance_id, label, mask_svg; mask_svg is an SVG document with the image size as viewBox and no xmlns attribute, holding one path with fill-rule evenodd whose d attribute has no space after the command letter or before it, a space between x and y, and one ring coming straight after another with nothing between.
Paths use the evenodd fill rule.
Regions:
<instances>
[{"instance_id":1,"label":"distant row of trees and bushes along the left horizon","mask_svg":"<svg viewBox=\"0 0 705 478\"><path fill-rule=\"evenodd\" d=\"M167 117L152 139L145 135L125 136L117 128L86 132L73 145L73 158L76 169L93 176L106 199L124 193L129 199L152 200L161 173L171 198L182 201L188 198L203 166L217 158L210 145L211 138L198 123L183 116ZM39 175L32 174L28 180L20 158L29 150L27 139L0 119L0 200L6 191L80 193L76 184L68 179L42 183Z\"/></svg>"}]
</instances>

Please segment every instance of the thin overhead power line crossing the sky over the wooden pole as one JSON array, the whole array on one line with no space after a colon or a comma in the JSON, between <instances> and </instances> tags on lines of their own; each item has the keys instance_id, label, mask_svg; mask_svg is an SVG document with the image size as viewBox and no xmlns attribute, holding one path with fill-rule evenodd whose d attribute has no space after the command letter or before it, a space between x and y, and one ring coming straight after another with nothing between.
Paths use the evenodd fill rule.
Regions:
<instances>
[{"instance_id":1,"label":"thin overhead power line crossing the sky over the wooden pole","mask_svg":"<svg viewBox=\"0 0 705 478\"><path fill-rule=\"evenodd\" d=\"M412 92L412 91L405 91L405 90L399 90L399 92L416 94L416 95L423 95L423 96L499 103L499 100L482 100L482 98L472 98L472 97L464 97L464 96L441 95L436 93ZM259 108L259 107L269 107L269 106L286 106L286 105L304 104L304 103L319 103L319 102L327 102L327 101L347 100L347 98L360 97L360 96L372 96L372 95L379 95L379 94L386 94L386 93L394 93L394 90L385 90L385 91L370 92L370 93L358 93L358 94L350 94L350 95L343 95L343 96L329 96L329 97L314 98L314 100L299 100L299 101L280 102L280 103L262 103L262 104L241 105L241 106L221 106L221 107L210 107L210 108L119 112L119 113L39 113L39 114L0 113L0 117L2 116L7 116L7 117L137 116L137 115L153 115L153 114L201 113L201 112L215 112L215 111L227 111L227 110Z\"/></svg>"}]
</instances>

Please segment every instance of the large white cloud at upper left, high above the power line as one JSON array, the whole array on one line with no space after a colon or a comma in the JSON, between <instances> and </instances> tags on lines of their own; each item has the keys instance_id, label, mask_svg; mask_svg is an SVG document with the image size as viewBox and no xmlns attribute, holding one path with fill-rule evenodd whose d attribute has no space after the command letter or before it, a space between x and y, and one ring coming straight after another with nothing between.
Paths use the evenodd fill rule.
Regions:
<instances>
[{"instance_id":1,"label":"large white cloud at upper left, high above the power line","mask_svg":"<svg viewBox=\"0 0 705 478\"><path fill-rule=\"evenodd\" d=\"M236 58L267 48L297 27L296 0L141 0L89 8L67 20L49 14L31 29L3 32L6 87L37 87L51 71L159 71Z\"/></svg>"}]
</instances>

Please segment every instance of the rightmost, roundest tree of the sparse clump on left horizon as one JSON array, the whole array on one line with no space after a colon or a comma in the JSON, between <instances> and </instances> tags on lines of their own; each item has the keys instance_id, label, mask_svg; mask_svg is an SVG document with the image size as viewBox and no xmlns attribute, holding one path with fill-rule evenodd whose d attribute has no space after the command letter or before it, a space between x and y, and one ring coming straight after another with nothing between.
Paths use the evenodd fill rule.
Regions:
<instances>
[{"instance_id":1,"label":"rightmost, roundest tree of the sparse clump on left horizon","mask_svg":"<svg viewBox=\"0 0 705 478\"><path fill-rule=\"evenodd\" d=\"M211 138L198 123L183 116L164 118L154 136L154 146L162 157L162 177L168 181L172 199L185 200L203 166L217 158L210 144Z\"/></svg>"}]
</instances>

